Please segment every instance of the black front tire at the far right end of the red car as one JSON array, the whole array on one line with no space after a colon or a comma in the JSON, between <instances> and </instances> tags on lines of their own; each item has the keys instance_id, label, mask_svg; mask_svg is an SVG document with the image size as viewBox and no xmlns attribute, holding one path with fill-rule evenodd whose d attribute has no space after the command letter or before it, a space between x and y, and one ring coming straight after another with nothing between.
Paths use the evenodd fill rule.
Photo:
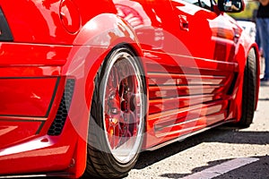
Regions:
<instances>
[{"instance_id":1,"label":"black front tire at the far right end of the red car","mask_svg":"<svg viewBox=\"0 0 269 179\"><path fill-rule=\"evenodd\" d=\"M256 109L256 53L252 48L247 55L247 64L244 71L242 116L238 123L239 127L249 127L253 122Z\"/></svg>"}]
</instances>

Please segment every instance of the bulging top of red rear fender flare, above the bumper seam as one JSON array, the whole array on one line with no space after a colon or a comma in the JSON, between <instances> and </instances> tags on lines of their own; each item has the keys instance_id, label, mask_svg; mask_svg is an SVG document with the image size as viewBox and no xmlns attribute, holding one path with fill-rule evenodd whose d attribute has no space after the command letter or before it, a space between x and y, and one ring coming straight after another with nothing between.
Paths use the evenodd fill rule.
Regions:
<instances>
[{"instance_id":1,"label":"bulging top of red rear fender flare, above the bumper seam","mask_svg":"<svg viewBox=\"0 0 269 179\"><path fill-rule=\"evenodd\" d=\"M74 39L75 46L115 47L122 42L139 46L132 27L112 13L92 18Z\"/></svg>"}]
</instances>

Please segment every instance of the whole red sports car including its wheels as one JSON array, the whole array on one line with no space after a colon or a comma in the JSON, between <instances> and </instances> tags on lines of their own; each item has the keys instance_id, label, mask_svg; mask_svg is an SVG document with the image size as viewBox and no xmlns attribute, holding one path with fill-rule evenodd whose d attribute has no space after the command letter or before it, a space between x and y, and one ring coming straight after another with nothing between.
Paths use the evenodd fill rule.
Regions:
<instances>
[{"instance_id":1,"label":"whole red sports car including its wheels","mask_svg":"<svg viewBox=\"0 0 269 179\"><path fill-rule=\"evenodd\" d=\"M0 176L117 178L140 151L252 123L243 0L0 0Z\"/></svg>"}]
</instances>

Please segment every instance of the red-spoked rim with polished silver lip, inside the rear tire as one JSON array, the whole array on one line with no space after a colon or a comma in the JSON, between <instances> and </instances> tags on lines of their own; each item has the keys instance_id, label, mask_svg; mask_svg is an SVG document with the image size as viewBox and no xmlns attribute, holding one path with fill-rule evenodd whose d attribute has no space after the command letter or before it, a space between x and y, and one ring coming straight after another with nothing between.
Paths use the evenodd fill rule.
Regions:
<instances>
[{"instance_id":1,"label":"red-spoked rim with polished silver lip, inside the rear tire","mask_svg":"<svg viewBox=\"0 0 269 179\"><path fill-rule=\"evenodd\" d=\"M104 76L103 119L108 148L120 163L128 163L143 141L142 73L133 55L113 56Z\"/></svg>"}]
</instances>

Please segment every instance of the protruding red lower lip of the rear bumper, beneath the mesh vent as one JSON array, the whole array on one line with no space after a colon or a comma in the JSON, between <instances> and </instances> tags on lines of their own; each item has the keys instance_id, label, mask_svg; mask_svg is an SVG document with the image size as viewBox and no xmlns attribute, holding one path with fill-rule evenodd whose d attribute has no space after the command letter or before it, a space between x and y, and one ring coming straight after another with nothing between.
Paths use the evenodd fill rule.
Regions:
<instances>
[{"instance_id":1,"label":"protruding red lower lip of the rear bumper, beneath the mesh vent","mask_svg":"<svg viewBox=\"0 0 269 179\"><path fill-rule=\"evenodd\" d=\"M68 132L67 132L68 133ZM0 175L67 171L72 165L76 137L43 135L0 151Z\"/></svg>"}]
</instances>

